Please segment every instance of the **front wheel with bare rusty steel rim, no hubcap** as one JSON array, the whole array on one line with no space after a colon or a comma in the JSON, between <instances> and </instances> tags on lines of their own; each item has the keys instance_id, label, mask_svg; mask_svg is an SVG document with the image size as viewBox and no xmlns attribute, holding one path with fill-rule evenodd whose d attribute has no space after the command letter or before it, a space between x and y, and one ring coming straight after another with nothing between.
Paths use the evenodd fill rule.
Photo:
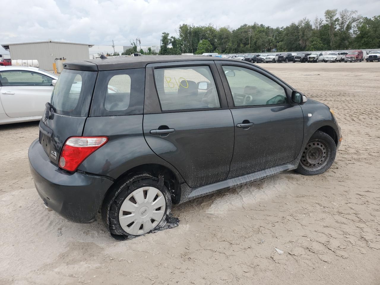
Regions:
<instances>
[{"instance_id":1,"label":"front wheel with bare rusty steel rim, no hubcap","mask_svg":"<svg viewBox=\"0 0 380 285\"><path fill-rule=\"evenodd\" d=\"M336 144L328 134L316 131L306 144L296 171L303 175L317 175L330 168L335 160Z\"/></svg>"}]
</instances>

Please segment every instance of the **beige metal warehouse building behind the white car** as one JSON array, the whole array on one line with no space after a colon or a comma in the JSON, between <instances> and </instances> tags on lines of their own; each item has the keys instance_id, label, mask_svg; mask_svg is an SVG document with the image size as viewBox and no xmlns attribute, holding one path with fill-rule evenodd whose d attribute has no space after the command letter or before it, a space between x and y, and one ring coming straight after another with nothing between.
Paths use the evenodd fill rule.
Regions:
<instances>
[{"instance_id":1,"label":"beige metal warehouse building behind the white car","mask_svg":"<svg viewBox=\"0 0 380 285\"><path fill-rule=\"evenodd\" d=\"M11 59L36 59L40 68L53 70L55 59L89 59L89 47L93 44L65 43L62 41L37 41L34 43L2 44Z\"/></svg>"}]
</instances>

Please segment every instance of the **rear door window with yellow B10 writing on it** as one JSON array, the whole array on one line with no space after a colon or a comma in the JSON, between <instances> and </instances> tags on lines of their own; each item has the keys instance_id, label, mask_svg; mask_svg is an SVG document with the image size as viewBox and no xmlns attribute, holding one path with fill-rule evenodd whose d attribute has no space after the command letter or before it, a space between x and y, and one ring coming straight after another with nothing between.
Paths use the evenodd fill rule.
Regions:
<instances>
[{"instance_id":1,"label":"rear door window with yellow B10 writing on it","mask_svg":"<svg viewBox=\"0 0 380 285\"><path fill-rule=\"evenodd\" d=\"M220 108L208 66L159 68L154 78L162 111Z\"/></svg>"}]
</instances>

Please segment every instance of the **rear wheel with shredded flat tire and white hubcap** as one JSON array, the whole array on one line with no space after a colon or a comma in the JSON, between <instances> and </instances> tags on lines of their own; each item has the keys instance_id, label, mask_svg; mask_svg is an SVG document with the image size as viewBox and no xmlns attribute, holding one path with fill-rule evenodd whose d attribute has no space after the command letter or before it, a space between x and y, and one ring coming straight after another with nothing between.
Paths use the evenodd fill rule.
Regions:
<instances>
[{"instance_id":1,"label":"rear wheel with shredded flat tire and white hubcap","mask_svg":"<svg viewBox=\"0 0 380 285\"><path fill-rule=\"evenodd\" d=\"M101 212L112 236L129 238L164 226L170 211L166 186L156 177L139 174L120 181L106 196Z\"/></svg>"}]
</instances>

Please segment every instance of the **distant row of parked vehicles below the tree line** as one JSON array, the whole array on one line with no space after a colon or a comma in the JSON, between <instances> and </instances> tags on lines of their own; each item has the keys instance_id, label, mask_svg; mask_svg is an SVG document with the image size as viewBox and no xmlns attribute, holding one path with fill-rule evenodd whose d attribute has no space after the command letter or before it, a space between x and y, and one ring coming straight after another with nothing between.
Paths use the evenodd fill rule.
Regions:
<instances>
[{"instance_id":1,"label":"distant row of parked vehicles below the tree line","mask_svg":"<svg viewBox=\"0 0 380 285\"><path fill-rule=\"evenodd\" d=\"M252 63L268 62L380 62L380 51L363 52L361 50L351 52L285 52L275 54L243 54L230 55L237 60L245 60Z\"/></svg>"}]
</instances>

